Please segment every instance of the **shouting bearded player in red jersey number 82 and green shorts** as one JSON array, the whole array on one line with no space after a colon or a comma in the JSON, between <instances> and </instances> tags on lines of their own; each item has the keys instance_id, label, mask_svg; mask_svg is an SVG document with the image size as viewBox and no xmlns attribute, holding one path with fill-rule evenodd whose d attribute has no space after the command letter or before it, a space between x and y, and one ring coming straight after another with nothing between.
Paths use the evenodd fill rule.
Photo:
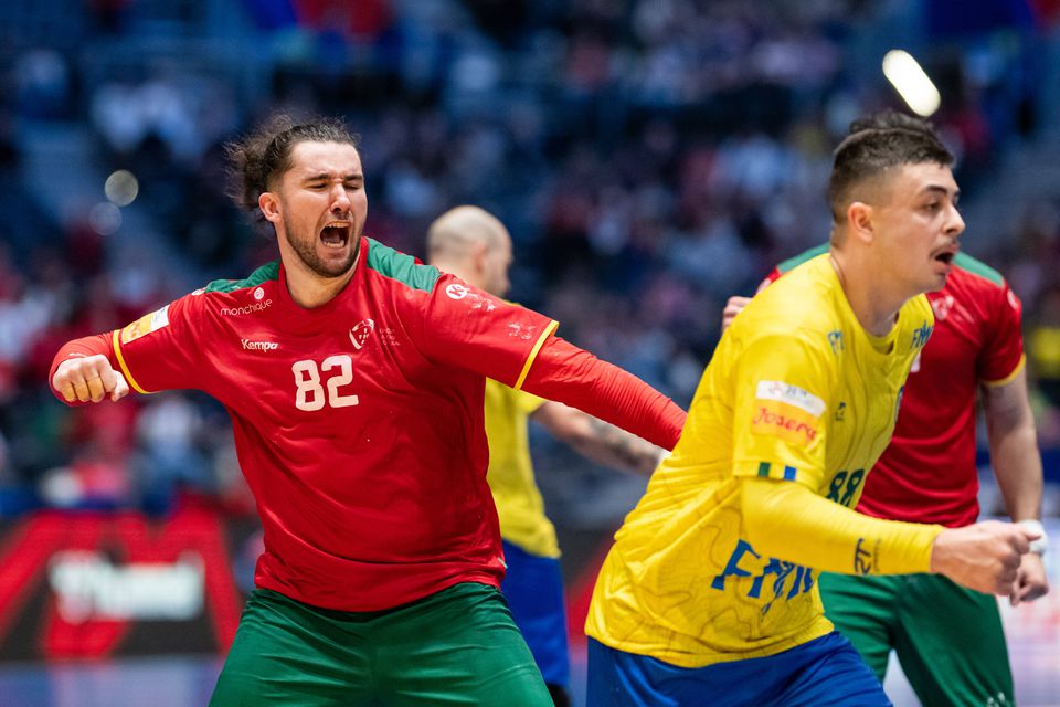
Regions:
<instances>
[{"instance_id":1,"label":"shouting bearded player in red jersey number 82 and green shorts","mask_svg":"<svg viewBox=\"0 0 1060 707\"><path fill-rule=\"evenodd\" d=\"M685 419L555 321L362 235L356 138L278 119L230 146L279 262L63 346L71 404L197 388L232 415L265 551L211 704L549 705L499 592L487 377L671 447Z\"/></svg>"}]
</instances>

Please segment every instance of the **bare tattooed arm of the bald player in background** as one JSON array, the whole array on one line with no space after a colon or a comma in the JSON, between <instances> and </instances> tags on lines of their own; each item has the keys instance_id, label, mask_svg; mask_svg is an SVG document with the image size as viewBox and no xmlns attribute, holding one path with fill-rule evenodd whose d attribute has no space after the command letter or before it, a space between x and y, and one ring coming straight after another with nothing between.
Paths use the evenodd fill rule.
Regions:
<instances>
[{"instance_id":1,"label":"bare tattooed arm of the bald player in background","mask_svg":"<svg viewBox=\"0 0 1060 707\"><path fill-rule=\"evenodd\" d=\"M635 434L590 414L545 401L530 414L552 436L566 442L597 464L637 474L650 474L665 451Z\"/></svg>"}]
</instances>

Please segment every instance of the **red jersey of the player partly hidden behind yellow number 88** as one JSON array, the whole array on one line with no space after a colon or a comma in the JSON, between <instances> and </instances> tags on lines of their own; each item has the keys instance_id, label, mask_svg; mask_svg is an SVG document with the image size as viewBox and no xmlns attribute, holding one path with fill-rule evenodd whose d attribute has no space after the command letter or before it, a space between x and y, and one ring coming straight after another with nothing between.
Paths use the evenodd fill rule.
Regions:
<instances>
[{"instance_id":1,"label":"red jersey of the player partly hidden behind yellow number 88","mask_svg":"<svg viewBox=\"0 0 1060 707\"><path fill-rule=\"evenodd\" d=\"M767 279L827 250L785 261ZM964 253L945 287L928 299L934 333L913 363L891 443L865 482L858 510L961 527L979 515L976 393L979 384L1004 384L1022 370L1022 307L999 273Z\"/></svg>"}]
</instances>

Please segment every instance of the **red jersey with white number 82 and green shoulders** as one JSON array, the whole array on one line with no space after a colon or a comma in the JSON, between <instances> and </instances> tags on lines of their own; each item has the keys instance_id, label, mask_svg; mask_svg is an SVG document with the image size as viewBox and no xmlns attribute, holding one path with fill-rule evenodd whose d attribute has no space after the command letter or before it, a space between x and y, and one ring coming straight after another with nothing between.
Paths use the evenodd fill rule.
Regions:
<instances>
[{"instance_id":1,"label":"red jersey with white number 82 and green shoulders","mask_svg":"<svg viewBox=\"0 0 1060 707\"><path fill-rule=\"evenodd\" d=\"M106 349L139 392L220 400L264 526L256 584L375 611L457 582L499 584L485 377L518 388L545 340L560 341L555 327L362 239L352 279L320 307L294 303L272 263L112 333L109 347L73 341L52 370ZM683 419L671 420L676 440Z\"/></svg>"}]
</instances>

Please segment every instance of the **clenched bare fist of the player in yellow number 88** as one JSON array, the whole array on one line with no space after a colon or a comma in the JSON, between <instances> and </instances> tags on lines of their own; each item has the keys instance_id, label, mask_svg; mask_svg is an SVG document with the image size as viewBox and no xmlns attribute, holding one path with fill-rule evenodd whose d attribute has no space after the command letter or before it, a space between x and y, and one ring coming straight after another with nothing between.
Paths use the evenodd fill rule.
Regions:
<instances>
[{"instance_id":1,"label":"clenched bare fist of the player in yellow number 88","mask_svg":"<svg viewBox=\"0 0 1060 707\"><path fill-rule=\"evenodd\" d=\"M1039 536L1020 525L985 520L946 528L931 550L931 571L987 594L1011 595L1020 559Z\"/></svg>"}]
</instances>

